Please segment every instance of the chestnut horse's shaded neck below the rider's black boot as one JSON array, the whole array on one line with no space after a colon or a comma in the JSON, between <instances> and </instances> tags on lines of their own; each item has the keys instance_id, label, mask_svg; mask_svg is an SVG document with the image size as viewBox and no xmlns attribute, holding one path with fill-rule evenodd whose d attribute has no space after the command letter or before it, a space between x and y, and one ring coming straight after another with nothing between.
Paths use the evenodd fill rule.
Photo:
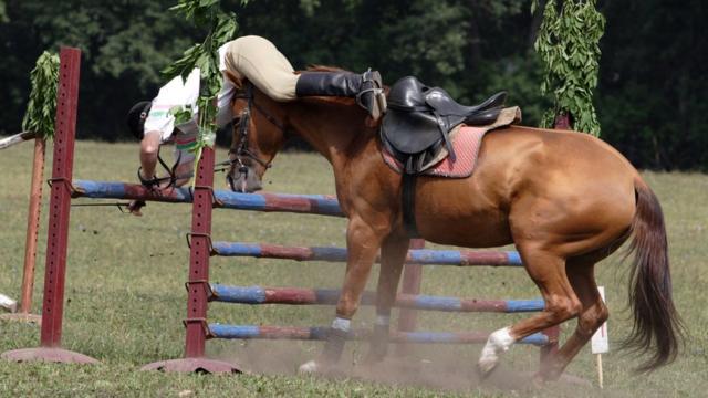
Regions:
<instances>
[{"instance_id":1,"label":"chestnut horse's shaded neck below the rider's black boot","mask_svg":"<svg viewBox=\"0 0 708 398\"><path fill-rule=\"evenodd\" d=\"M292 103L289 124L330 164L340 169L374 134L356 105L302 101Z\"/></svg>"}]
</instances>

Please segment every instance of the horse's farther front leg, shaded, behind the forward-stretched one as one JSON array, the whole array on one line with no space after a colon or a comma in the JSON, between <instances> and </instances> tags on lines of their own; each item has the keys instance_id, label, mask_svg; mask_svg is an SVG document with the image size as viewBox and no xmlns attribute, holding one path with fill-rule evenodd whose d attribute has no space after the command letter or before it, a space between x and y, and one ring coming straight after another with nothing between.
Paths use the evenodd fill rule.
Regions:
<instances>
[{"instance_id":1,"label":"horse's farther front leg, shaded, behind the forward-stretched one","mask_svg":"<svg viewBox=\"0 0 708 398\"><path fill-rule=\"evenodd\" d=\"M376 323L365 363L381 362L388 350L391 308L396 302L400 272L406 261L410 239L405 235L388 235L381 248L381 269L376 287Z\"/></svg>"}]
</instances>

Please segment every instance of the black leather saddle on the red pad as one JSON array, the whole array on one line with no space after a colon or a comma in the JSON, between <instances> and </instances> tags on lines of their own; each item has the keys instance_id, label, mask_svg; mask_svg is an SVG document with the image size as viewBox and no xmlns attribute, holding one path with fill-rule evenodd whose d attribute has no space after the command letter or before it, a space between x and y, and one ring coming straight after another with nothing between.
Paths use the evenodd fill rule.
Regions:
<instances>
[{"instance_id":1,"label":"black leather saddle on the red pad","mask_svg":"<svg viewBox=\"0 0 708 398\"><path fill-rule=\"evenodd\" d=\"M381 126L382 142L404 165L405 174L418 174L442 147L455 160L449 133L459 124L488 125L497 121L506 92L479 105L458 104L440 87L428 87L416 77L403 77L388 93L388 109Z\"/></svg>"}]
</instances>

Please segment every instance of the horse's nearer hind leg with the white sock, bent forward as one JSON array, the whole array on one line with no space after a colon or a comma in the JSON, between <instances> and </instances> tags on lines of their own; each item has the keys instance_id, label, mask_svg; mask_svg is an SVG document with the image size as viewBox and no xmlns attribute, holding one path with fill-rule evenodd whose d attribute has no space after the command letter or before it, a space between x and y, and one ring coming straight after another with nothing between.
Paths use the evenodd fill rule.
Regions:
<instances>
[{"instance_id":1,"label":"horse's nearer hind leg with the white sock, bent forward","mask_svg":"<svg viewBox=\"0 0 708 398\"><path fill-rule=\"evenodd\" d=\"M530 245L518 243L517 247L527 272L541 291L545 308L489 336L478 363L482 375L497 366L501 353L514 342L572 318L581 310L581 303L565 275L565 259Z\"/></svg>"}]
</instances>

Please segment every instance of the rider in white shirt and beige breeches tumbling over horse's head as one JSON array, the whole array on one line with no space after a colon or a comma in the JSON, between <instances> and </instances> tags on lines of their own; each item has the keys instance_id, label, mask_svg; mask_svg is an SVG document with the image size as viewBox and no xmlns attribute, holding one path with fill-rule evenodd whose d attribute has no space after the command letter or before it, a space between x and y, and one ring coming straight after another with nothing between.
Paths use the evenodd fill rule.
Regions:
<instances>
[{"instance_id":1,"label":"rider in white shirt and beige breeches tumbling over horse's head","mask_svg":"<svg viewBox=\"0 0 708 398\"><path fill-rule=\"evenodd\" d=\"M219 49L219 70L222 85L217 104L217 126L223 127L232 119L231 100L236 87L228 75L247 77L266 95L275 101L294 101L305 96L347 96L355 97L368 114L377 119L385 112L381 75L376 71L363 74L351 72L301 72L295 74L285 56L275 45L264 38L248 35L223 44ZM186 81L180 76L173 78L159 90L152 101L143 101L133 106L127 115L131 133L140 140L140 168L138 179L148 187L165 186L166 179L156 178L159 160L159 147L174 142L177 159L171 181L176 186L185 185L194 166L191 149L198 133L196 124L197 97L199 95L199 70L191 71ZM189 109L192 119L175 125L175 108ZM173 176L173 177L174 177ZM133 213L139 214L142 203L133 202Z\"/></svg>"}]
</instances>

